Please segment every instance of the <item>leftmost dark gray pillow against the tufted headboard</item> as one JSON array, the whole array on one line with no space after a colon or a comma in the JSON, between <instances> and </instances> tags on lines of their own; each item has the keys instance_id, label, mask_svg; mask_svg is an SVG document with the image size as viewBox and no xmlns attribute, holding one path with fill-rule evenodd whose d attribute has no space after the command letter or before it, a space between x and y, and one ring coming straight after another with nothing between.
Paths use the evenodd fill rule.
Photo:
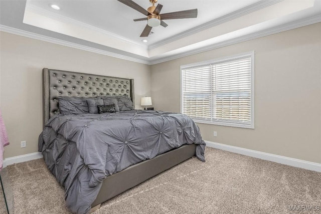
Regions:
<instances>
[{"instance_id":1,"label":"leftmost dark gray pillow against the tufted headboard","mask_svg":"<svg viewBox=\"0 0 321 214\"><path fill-rule=\"evenodd\" d=\"M86 114L89 112L88 104L82 97L58 97L61 114Z\"/></svg>"}]
</instances>

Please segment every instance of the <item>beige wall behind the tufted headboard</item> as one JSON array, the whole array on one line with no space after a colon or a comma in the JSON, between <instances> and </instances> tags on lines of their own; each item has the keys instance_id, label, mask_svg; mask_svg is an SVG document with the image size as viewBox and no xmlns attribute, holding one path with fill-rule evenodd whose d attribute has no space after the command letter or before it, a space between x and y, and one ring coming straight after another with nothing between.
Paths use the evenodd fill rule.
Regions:
<instances>
[{"instance_id":1,"label":"beige wall behind the tufted headboard","mask_svg":"<svg viewBox=\"0 0 321 214\"><path fill-rule=\"evenodd\" d=\"M135 104L150 95L150 66L1 32L0 107L10 145L4 157L38 151L42 131L42 69L133 78ZM27 147L20 142L27 140Z\"/></svg>"}]
</instances>

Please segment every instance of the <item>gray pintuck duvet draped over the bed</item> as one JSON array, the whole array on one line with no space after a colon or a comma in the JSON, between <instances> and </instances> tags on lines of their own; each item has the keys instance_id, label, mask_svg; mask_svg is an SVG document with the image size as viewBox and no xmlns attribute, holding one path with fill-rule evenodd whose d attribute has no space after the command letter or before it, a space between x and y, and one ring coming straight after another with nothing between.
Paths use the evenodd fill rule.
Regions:
<instances>
[{"instance_id":1,"label":"gray pintuck duvet draped over the bed","mask_svg":"<svg viewBox=\"0 0 321 214\"><path fill-rule=\"evenodd\" d=\"M88 213L106 176L183 144L205 142L188 116L162 111L62 115L52 117L39 136L49 170L65 187L67 207Z\"/></svg>"}]
</instances>

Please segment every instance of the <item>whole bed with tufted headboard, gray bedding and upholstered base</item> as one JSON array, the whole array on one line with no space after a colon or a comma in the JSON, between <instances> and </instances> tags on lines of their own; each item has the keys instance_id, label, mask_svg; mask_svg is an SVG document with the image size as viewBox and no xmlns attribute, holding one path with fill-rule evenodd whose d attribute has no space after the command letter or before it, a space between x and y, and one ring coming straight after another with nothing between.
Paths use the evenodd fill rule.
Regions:
<instances>
[{"instance_id":1,"label":"whole bed with tufted headboard, gray bedding and upholstered base","mask_svg":"<svg viewBox=\"0 0 321 214\"><path fill-rule=\"evenodd\" d=\"M114 103L105 105L103 100L104 105L98 105L101 98ZM43 69L44 130L39 151L64 186L66 206L74 213L97 209L195 155L205 161L205 142L189 117L133 108L114 112L114 98L120 109L126 109L128 102L134 106L134 80ZM88 105L92 103L88 100L95 100L103 113L64 112L72 99L86 100ZM81 104L72 110L81 111Z\"/></svg>"}]
</instances>

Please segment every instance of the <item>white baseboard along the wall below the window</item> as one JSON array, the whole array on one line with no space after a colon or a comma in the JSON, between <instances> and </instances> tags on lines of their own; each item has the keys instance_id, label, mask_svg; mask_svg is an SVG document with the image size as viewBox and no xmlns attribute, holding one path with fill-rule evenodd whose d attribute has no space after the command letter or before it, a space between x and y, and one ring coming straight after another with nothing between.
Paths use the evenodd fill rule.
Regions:
<instances>
[{"instance_id":1,"label":"white baseboard along the wall below the window","mask_svg":"<svg viewBox=\"0 0 321 214\"><path fill-rule=\"evenodd\" d=\"M217 148L225 151L230 151L238 154L244 154L250 157L256 157L259 159L263 160L269 160L273 161L276 163L282 163L285 165L290 165L294 167L299 167L303 169L308 169L308 170L313 170L317 172L321 172L321 164L320 163L314 163L314 162L309 162L305 160L299 160L291 157L284 157L280 155L275 155L275 154L269 154L265 152L260 152L260 151L255 151L251 149L245 149L241 147L236 147L236 146L230 146L230 145L225 145L221 143L215 143L211 141L205 141L206 146L212 147L212 148Z\"/></svg>"}]
</instances>

